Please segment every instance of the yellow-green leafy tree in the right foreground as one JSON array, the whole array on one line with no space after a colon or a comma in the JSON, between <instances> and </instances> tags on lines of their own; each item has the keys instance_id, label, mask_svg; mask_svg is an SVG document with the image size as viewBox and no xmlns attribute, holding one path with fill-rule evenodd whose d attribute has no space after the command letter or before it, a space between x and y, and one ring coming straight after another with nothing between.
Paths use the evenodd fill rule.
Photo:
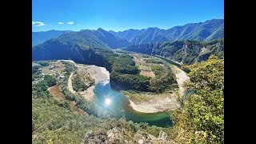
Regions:
<instances>
[{"instance_id":1,"label":"yellow-green leafy tree in the right foreground","mask_svg":"<svg viewBox=\"0 0 256 144\"><path fill-rule=\"evenodd\" d=\"M210 56L190 67L188 90L193 90L183 112L174 114L178 142L224 143L224 62Z\"/></svg>"}]
</instances>

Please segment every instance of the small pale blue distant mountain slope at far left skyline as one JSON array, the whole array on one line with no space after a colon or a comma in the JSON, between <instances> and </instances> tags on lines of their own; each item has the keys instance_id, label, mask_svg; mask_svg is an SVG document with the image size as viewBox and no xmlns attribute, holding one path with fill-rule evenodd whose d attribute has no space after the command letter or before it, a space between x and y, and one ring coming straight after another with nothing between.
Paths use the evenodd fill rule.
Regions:
<instances>
[{"instance_id":1,"label":"small pale blue distant mountain slope at far left skyline","mask_svg":"<svg viewBox=\"0 0 256 144\"><path fill-rule=\"evenodd\" d=\"M32 46L38 45L39 43L46 42L51 38L58 38L61 34L71 32L71 30L49 30L32 32Z\"/></svg>"}]
</instances>

